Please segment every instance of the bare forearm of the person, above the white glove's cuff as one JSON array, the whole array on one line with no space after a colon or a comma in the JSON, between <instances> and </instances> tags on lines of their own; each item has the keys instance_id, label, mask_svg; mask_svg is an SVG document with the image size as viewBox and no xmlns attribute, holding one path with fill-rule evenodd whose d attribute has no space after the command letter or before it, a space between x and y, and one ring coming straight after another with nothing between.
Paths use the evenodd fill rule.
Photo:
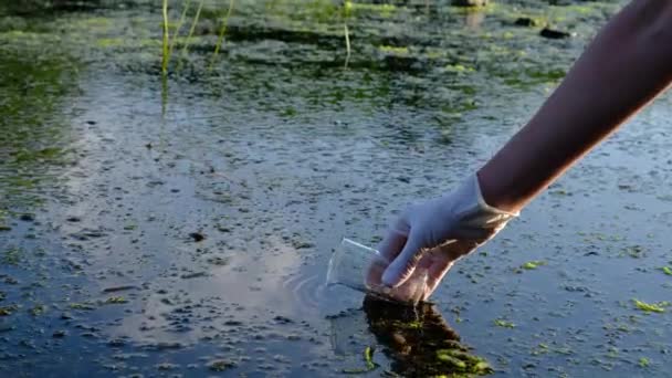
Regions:
<instances>
[{"instance_id":1,"label":"bare forearm of the person, above the white glove's cuff","mask_svg":"<svg viewBox=\"0 0 672 378\"><path fill-rule=\"evenodd\" d=\"M532 120L481 170L485 201L517 211L672 82L672 0L634 0Z\"/></svg>"}]
</instances>

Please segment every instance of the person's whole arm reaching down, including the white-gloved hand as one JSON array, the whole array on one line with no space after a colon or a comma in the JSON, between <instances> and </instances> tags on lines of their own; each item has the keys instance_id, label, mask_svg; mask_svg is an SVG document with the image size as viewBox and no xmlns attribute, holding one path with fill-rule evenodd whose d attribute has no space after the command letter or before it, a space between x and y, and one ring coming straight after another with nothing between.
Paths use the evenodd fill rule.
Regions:
<instances>
[{"instance_id":1,"label":"person's whole arm reaching down, including the white-gloved hand","mask_svg":"<svg viewBox=\"0 0 672 378\"><path fill-rule=\"evenodd\" d=\"M397 286L417 265L428 265L431 294L454 261L494 237L671 82L672 0L634 0L598 34L532 120L479 170L477 179L468 179L475 186L465 182L397 219L379 248L392 260L382 281ZM490 220L469 224L472 231L482 229L481 234L461 232L469 220L455 209L464 207ZM498 211L510 216L496 219Z\"/></svg>"}]
</instances>

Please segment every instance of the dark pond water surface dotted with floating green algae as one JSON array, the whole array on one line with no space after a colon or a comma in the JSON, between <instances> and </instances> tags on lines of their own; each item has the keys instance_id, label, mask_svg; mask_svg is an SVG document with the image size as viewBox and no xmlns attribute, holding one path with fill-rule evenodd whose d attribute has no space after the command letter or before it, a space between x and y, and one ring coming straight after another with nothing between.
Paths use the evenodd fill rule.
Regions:
<instances>
[{"instance_id":1,"label":"dark pond water surface dotted with floating green algae","mask_svg":"<svg viewBox=\"0 0 672 378\"><path fill-rule=\"evenodd\" d=\"M668 375L672 308L634 300L672 298L669 95L434 306L322 286L342 237L483 164L618 4L357 3L347 70L339 8L296 0L237 2L211 65L227 6L165 81L156 7L0 19L3 376L426 376L452 346L501 376Z\"/></svg>"}]
</instances>

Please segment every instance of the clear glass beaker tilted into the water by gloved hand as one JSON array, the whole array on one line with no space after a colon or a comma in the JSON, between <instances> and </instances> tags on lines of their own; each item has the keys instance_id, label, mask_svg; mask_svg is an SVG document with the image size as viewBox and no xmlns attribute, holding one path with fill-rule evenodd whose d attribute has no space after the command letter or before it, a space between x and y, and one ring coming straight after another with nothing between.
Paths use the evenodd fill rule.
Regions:
<instances>
[{"instance_id":1,"label":"clear glass beaker tilted into the water by gloved hand","mask_svg":"<svg viewBox=\"0 0 672 378\"><path fill-rule=\"evenodd\" d=\"M389 263L377 250L343 239L329 261L327 286L345 285L363 293L412 305L422 301L427 292L427 269L417 267L402 285L389 287L381 283L382 273Z\"/></svg>"}]
</instances>

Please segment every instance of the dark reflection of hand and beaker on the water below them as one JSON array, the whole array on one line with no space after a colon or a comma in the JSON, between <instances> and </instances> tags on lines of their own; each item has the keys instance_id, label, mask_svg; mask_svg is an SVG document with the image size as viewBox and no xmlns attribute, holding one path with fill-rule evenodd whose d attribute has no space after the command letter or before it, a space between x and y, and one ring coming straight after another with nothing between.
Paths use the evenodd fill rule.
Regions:
<instances>
[{"instance_id":1,"label":"dark reflection of hand and beaker on the water below them","mask_svg":"<svg viewBox=\"0 0 672 378\"><path fill-rule=\"evenodd\" d=\"M389 370L403 377L492 372L483 358L472 355L460 342L431 303L413 308L366 296L361 309L329 316L329 321L332 347L337 354L380 350L389 360Z\"/></svg>"}]
</instances>

